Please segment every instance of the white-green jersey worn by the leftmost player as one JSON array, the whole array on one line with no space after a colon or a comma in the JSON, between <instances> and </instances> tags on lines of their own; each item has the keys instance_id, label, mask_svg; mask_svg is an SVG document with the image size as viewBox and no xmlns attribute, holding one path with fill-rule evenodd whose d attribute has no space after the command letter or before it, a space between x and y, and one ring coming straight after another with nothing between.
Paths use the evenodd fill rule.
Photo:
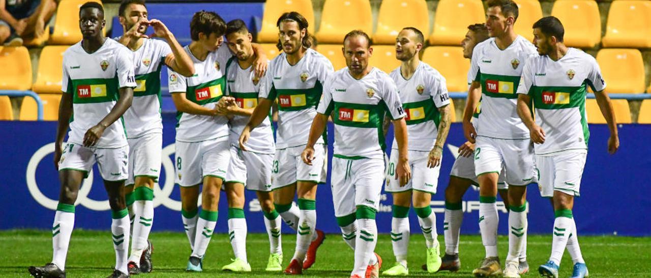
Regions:
<instances>
[{"instance_id":1,"label":"white-green jersey worn by the leftmost player","mask_svg":"<svg viewBox=\"0 0 651 278\"><path fill-rule=\"evenodd\" d=\"M72 94L73 116L68 142L83 144L90 127L97 125L111 112L120 97L120 88L135 88L133 54L124 45L107 39L94 53L87 53L81 42L63 53L61 90ZM122 119L104 130L98 148L118 148L127 145Z\"/></svg>"}]
</instances>

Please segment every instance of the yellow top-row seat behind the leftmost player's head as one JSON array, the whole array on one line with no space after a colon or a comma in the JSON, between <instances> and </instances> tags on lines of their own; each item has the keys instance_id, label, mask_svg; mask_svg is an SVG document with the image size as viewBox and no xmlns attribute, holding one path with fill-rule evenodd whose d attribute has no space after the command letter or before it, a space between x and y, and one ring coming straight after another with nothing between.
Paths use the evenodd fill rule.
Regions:
<instances>
[{"instance_id":1,"label":"yellow top-row seat behind the leftmost player's head","mask_svg":"<svg viewBox=\"0 0 651 278\"><path fill-rule=\"evenodd\" d=\"M54 32L49 37L49 44L76 44L81 40L79 31L79 7L86 2L97 2L99 0L61 0L57 6L57 16L54 21ZM107 18L106 20L110 20ZM104 28L104 34L106 28Z\"/></svg>"}]
</instances>

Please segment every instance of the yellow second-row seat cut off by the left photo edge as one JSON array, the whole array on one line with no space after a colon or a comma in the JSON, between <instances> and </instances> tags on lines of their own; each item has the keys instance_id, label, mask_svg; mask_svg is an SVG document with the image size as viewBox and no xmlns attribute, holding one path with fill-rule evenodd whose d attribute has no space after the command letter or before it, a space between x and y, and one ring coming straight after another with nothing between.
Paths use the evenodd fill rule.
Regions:
<instances>
[{"instance_id":1,"label":"yellow second-row seat cut off by the left photo edge","mask_svg":"<svg viewBox=\"0 0 651 278\"><path fill-rule=\"evenodd\" d=\"M31 88L32 62L27 48L0 46L0 65L0 90L24 91Z\"/></svg>"}]
</instances>

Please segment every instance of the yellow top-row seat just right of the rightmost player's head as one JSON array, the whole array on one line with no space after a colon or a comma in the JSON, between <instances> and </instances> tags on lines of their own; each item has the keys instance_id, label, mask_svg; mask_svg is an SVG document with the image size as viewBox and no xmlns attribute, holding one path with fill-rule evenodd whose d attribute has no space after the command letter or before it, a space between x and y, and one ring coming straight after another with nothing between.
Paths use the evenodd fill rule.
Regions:
<instances>
[{"instance_id":1,"label":"yellow top-row seat just right of the rightmost player's head","mask_svg":"<svg viewBox=\"0 0 651 278\"><path fill-rule=\"evenodd\" d=\"M592 48L602 38L602 22L594 0L558 0L551 15L565 28L564 42L571 47Z\"/></svg>"}]
</instances>

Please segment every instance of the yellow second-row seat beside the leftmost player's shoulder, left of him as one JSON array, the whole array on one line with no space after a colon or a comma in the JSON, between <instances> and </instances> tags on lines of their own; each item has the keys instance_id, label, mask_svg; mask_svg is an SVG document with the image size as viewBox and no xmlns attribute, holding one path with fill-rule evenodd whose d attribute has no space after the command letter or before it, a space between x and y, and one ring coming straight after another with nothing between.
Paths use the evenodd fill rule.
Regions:
<instances>
[{"instance_id":1,"label":"yellow second-row seat beside the leftmost player's shoulder, left of him","mask_svg":"<svg viewBox=\"0 0 651 278\"><path fill-rule=\"evenodd\" d=\"M38 58L38 72L32 90L38 94L61 94L63 53L68 45L43 47Z\"/></svg>"}]
</instances>

